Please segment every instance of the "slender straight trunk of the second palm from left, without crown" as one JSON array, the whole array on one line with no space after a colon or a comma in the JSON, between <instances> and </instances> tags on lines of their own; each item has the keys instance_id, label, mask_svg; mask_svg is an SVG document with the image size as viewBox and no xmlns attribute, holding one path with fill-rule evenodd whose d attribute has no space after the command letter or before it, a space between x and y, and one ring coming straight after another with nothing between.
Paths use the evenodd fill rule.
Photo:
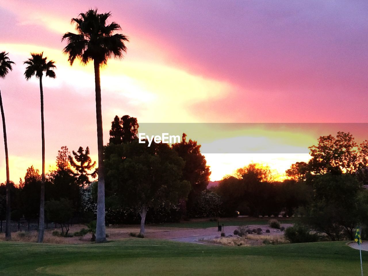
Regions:
<instances>
[{"instance_id":1,"label":"slender straight trunk of the second palm from left, without crown","mask_svg":"<svg viewBox=\"0 0 368 276\"><path fill-rule=\"evenodd\" d=\"M41 176L41 197L40 197L40 219L38 224L38 243L43 243L45 232L45 122L43 120L43 88L42 76L40 76L41 95L41 137L42 137L42 176Z\"/></svg>"}]
</instances>

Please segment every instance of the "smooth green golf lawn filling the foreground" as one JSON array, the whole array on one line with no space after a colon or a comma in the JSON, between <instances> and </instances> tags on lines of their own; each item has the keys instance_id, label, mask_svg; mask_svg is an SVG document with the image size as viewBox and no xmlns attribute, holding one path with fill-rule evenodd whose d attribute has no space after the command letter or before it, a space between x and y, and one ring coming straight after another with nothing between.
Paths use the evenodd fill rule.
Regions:
<instances>
[{"instance_id":1,"label":"smooth green golf lawn filling the foreground","mask_svg":"<svg viewBox=\"0 0 368 276\"><path fill-rule=\"evenodd\" d=\"M344 242L222 247L131 238L106 244L0 243L0 275L347 276L359 251ZM363 252L368 271L368 253ZM367 265L366 265L367 264Z\"/></svg>"}]
</instances>

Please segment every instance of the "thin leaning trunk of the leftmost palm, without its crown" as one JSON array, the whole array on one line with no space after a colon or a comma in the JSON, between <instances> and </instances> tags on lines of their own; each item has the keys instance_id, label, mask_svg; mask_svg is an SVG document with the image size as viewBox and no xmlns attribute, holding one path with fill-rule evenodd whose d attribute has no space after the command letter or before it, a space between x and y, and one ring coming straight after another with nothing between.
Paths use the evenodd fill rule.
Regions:
<instances>
[{"instance_id":1,"label":"thin leaning trunk of the leftmost palm, without its crown","mask_svg":"<svg viewBox=\"0 0 368 276\"><path fill-rule=\"evenodd\" d=\"M1 91L0 91L0 109L1 109L1 118L3 119L5 163L6 163L6 226L5 226L5 238L7 240L10 240L11 239L11 229L10 229L9 158L8 158L8 142L7 142L7 138L6 138L5 115L4 115L4 108L3 108L3 99L1 98Z\"/></svg>"}]
</instances>

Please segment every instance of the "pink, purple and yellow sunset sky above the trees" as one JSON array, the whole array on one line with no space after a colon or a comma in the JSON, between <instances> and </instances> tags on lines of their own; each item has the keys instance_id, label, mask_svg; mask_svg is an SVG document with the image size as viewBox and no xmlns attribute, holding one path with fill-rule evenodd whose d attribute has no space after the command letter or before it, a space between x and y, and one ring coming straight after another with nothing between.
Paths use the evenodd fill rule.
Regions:
<instances>
[{"instance_id":1,"label":"pink, purple and yellow sunset sky above the trees","mask_svg":"<svg viewBox=\"0 0 368 276\"><path fill-rule=\"evenodd\" d=\"M207 123L201 131L180 125L219 180L250 162L282 175L309 159L319 136L339 130L368 139L367 125L349 124L368 121L367 2L1 0L0 52L16 63L0 79L15 183L31 165L41 169L39 84L23 76L30 52L57 66L57 78L43 81L46 170L64 145L89 146L97 159L93 65L70 67L61 42L74 32L71 18L89 8L111 11L130 38L125 58L101 71L105 144L115 115L142 126ZM209 123L280 124L220 132ZM214 150L229 144L240 153ZM1 182L3 156L0 146Z\"/></svg>"}]
</instances>

